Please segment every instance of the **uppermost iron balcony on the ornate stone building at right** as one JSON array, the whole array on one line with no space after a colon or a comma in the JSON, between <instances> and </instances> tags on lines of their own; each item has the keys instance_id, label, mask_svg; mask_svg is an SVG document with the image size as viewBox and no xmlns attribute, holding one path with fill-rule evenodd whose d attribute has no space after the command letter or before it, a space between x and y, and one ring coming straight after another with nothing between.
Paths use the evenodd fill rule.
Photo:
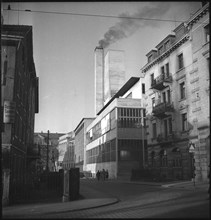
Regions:
<instances>
[{"instance_id":1,"label":"uppermost iron balcony on the ornate stone building at right","mask_svg":"<svg viewBox=\"0 0 211 220\"><path fill-rule=\"evenodd\" d=\"M161 74L152 81L151 89L163 90L169 85L169 83L172 83L172 75L170 73Z\"/></svg>"}]
</instances>

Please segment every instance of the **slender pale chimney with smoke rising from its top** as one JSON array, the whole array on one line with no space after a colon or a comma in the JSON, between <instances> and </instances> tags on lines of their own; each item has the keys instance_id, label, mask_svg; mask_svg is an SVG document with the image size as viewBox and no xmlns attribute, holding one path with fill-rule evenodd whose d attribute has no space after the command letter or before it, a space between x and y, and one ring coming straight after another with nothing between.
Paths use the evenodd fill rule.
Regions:
<instances>
[{"instance_id":1,"label":"slender pale chimney with smoke rising from its top","mask_svg":"<svg viewBox=\"0 0 211 220\"><path fill-rule=\"evenodd\" d=\"M102 47L96 47L94 53L95 71L95 115L103 108L104 101L104 52Z\"/></svg>"}]
</instances>

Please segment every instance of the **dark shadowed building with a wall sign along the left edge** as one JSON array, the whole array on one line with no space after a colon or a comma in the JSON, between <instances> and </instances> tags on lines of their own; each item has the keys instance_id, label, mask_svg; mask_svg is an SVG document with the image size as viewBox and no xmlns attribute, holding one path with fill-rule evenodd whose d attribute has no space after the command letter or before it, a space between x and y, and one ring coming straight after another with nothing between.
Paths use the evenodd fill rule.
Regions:
<instances>
[{"instance_id":1,"label":"dark shadowed building with a wall sign along the left edge","mask_svg":"<svg viewBox=\"0 0 211 220\"><path fill-rule=\"evenodd\" d=\"M1 123L3 205L15 202L27 184L38 77L33 59L32 26L1 26Z\"/></svg>"}]
</instances>

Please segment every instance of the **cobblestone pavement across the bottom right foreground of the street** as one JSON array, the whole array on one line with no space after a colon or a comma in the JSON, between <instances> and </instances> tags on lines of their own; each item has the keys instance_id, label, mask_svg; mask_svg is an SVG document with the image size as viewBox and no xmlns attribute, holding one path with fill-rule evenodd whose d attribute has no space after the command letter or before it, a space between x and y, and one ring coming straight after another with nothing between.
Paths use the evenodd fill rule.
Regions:
<instances>
[{"instance_id":1,"label":"cobblestone pavement across the bottom right foreground of the street","mask_svg":"<svg viewBox=\"0 0 211 220\"><path fill-rule=\"evenodd\" d=\"M46 215L42 218L209 218L209 201L205 192L144 204L141 201L120 202L112 206Z\"/></svg>"}]
</instances>

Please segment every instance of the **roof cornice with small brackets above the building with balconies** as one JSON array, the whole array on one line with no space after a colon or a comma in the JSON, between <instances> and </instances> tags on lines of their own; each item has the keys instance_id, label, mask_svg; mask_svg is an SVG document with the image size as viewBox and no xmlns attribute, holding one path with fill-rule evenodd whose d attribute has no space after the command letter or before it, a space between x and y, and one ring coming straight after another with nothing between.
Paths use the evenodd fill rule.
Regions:
<instances>
[{"instance_id":1,"label":"roof cornice with small brackets above the building with balconies","mask_svg":"<svg viewBox=\"0 0 211 220\"><path fill-rule=\"evenodd\" d=\"M189 35L186 34L183 38L181 38L179 41L175 42L167 51L165 51L163 54L161 54L159 57L157 57L155 60L153 60L150 63L147 63L142 69L141 72L144 73L147 70L149 70L152 66L154 66L156 63L159 63L164 58L168 57L176 48L180 47L183 43L185 43L189 39Z\"/></svg>"}]
</instances>

